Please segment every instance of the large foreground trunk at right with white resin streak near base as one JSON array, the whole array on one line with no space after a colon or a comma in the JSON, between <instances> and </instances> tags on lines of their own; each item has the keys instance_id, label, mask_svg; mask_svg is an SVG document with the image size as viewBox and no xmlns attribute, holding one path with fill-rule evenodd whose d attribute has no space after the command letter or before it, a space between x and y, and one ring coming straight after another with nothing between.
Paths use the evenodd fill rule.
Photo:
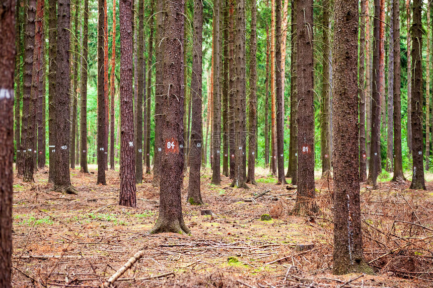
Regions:
<instances>
[{"instance_id":1,"label":"large foreground trunk at right with white resin streak near base","mask_svg":"<svg viewBox=\"0 0 433 288\"><path fill-rule=\"evenodd\" d=\"M358 1L335 1L334 274L373 271L363 257L358 171ZM300 179L301 181L301 179Z\"/></svg>"}]
</instances>

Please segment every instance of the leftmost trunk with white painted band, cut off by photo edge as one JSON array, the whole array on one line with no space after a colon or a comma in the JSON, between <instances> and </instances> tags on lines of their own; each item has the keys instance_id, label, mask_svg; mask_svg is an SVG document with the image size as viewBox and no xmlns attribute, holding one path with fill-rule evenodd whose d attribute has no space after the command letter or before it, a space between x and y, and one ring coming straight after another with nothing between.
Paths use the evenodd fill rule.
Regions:
<instances>
[{"instance_id":1,"label":"leftmost trunk with white painted band, cut off by photo edge","mask_svg":"<svg viewBox=\"0 0 433 288\"><path fill-rule=\"evenodd\" d=\"M12 287L12 184L14 161L15 0L0 7L0 286Z\"/></svg>"}]
</instances>

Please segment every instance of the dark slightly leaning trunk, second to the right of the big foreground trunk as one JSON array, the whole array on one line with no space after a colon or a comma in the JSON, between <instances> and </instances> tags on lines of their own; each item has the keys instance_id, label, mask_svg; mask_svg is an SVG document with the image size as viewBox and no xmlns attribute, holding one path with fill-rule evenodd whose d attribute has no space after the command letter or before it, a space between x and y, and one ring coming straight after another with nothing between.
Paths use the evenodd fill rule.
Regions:
<instances>
[{"instance_id":1,"label":"dark slightly leaning trunk, second to the right of the big foreground trunk","mask_svg":"<svg viewBox=\"0 0 433 288\"><path fill-rule=\"evenodd\" d=\"M375 0L375 18L373 20L373 37L379 39L380 35L380 0ZM380 41L374 41L373 46L373 90L372 90L372 120L371 120L371 143L370 143L370 162L369 177L367 182L370 185L377 186L377 177L379 172L380 158L380 113L381 113L381 95L380 95Z\"/></svg>"}]
</instances>

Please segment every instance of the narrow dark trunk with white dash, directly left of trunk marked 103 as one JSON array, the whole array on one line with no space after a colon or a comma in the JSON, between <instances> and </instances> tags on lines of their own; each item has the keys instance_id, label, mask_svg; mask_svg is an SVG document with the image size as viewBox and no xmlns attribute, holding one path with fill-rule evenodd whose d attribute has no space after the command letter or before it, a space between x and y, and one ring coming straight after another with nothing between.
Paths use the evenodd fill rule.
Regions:
<instances>
[{"instance_id":1,"label":"narrow dark trunk with white dash, directly left of trunk marked 103","mask_svg":"<svg viewBox=\"0 0 433 288\"><path fill-rule=\"evenodd\" d=\"M57 55L57 1L48 1L48 159L49 171L48 181L54 182L55 165L55 121L56 115L54 98L56 93L56 71L57 63L55 61ZM86 17L86 16L85 16ZM86 19L86 18L85 18ZM89 19L89 17L88 17ZM86 41L87 47L87 41ZM84 48L83 48L84 50ZM84 51L83 51L84 53ZM87 53L87 49L86 49ZM87 62L86 62L87 65ZM87 70L86 70L87 73Z\"/></svg>"}]
</instances>

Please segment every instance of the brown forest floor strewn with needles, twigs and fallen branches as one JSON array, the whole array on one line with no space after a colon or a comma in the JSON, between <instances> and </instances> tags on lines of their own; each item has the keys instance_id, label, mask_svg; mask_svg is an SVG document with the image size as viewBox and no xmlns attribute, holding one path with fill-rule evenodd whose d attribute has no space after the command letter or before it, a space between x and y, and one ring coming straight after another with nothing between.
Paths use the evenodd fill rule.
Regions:
<instances>
[{"instance_id":1,"label":"brown forest floor strewn with needles, twigs and fallen branches","mask_svg":"<svg viewBox=\"0 0 433 288\"><path fill-rule=\"evenodd\" d=\"M315 218L290 215L296 190L275 185L260 171L250 189L208 184L205 205L186 203L190 235L148 235L159 189L151 175L137 185L137 208L119 206L118 171L106 186L94 174L71 170L79 195L50 191L47 170L36 183L14 183L14 287L97 287L138 250L146 251L114 284L118 287L431 287L433 285L433 182L427 191L410 182L362 185L364 255L376 275L332 275L332 179L317 174ZM329 180L329 181L328 181ZM188 175L184 179L187 188ZM290 187L290 185L288 186ZM264 195L261 192L270 189ZM254 197L256 197L254 199ZM211 209L214 215L200 215ZM272 220L261 221L262 214ZM311 244L311 246L310 246ZM307 249L304 249L307 248Z\"/></svg>"}]
</instances>

